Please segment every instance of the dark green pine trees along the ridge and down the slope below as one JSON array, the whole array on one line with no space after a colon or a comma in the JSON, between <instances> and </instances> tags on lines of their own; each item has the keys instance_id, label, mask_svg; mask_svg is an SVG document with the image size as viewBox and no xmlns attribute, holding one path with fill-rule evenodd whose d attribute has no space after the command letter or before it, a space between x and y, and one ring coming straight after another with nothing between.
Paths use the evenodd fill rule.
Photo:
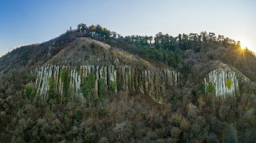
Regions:
<instances>
[{"instance_id":1,"label":"dark green pine trees along the ridge and down the slope below","mask_svg":"<svg viewBox=\"0 0 256 143\"><path fill-rule=\"evenodd\" d=\"M201 32L190 33L190 34L179 34L176 37L170 36L169 34L163 34L159 32L152 36L121 36L117 32L111 32L107 28L102 28L101 25L90 25L89 27L86 24L77 25L77 32L80 32L85 37L94 38L96 40L104 41L114 46L111 40L117 42L126 42L127 44L135 45L136 48L133 50L133 54L140 55L141 57L147 58L154 62L163 62L168 66L174 68L181 68L186 71L188 67L187 63L184 61L184 52L185 50L193 50L195 52L207 51L209 44L220 44L224 47L235 46L241 47L240 41L234 41L228 37L222 35L216 36L212 32ZM122 47L123 45L118 45ZM123 46L125 50L130 46Z\"/></svg>"}]
</instances>

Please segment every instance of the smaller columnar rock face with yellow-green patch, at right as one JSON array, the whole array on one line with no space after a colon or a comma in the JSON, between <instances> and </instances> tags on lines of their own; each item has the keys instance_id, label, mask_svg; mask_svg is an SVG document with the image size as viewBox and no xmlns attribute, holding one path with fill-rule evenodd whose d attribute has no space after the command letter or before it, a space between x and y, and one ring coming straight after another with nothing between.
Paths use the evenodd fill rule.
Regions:
<instances>
[{"instance_id":1,"label":"smaller columnar rock face with yellow-green patch, at right","mask_svg":"<svg viewBox=\"0 0 256 143\"><path fill-rule=\"evenodd\" d=\"M239 83L248 79L231 68L218 68L204 78L205 90L210 89L218 97L232 96L239 92Z\"/></svg>"}]
</instances>

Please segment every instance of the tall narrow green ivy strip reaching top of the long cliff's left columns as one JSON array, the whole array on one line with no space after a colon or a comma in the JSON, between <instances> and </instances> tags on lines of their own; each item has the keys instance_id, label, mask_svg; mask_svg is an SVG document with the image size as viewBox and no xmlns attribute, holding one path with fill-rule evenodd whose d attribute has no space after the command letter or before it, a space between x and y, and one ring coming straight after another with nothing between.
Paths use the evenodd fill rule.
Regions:
<instances>
[{"instance_id":1,"label":"tall narrow green ivy strip reaching top of the long cliff's left columns","mask_svg":"<svg viewBox=\"0 0 256 143\"><path fill-rule=\"evenodd\" d=\"M63 93L65 96L65 101L68 102L71 99L71 96L69 94L69 74L67 70L61 70L60 72L60 78L63 82Z\"/></svg>"}]
</instances>

